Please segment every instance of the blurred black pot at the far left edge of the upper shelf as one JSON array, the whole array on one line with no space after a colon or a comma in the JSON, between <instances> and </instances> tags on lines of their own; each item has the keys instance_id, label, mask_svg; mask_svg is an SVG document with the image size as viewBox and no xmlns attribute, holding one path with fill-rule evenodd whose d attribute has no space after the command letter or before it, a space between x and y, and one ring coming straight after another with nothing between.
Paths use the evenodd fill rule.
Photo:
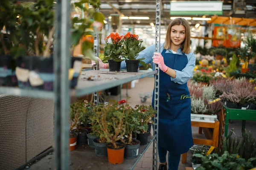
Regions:
<instances>
[{"instance_id":1,"label":"blurred black pot at the far left edge of the upper shelf","mask_svg":"<svg viewBox=\"0 0 256 170\"><path fill-rule=\"evenodd\" d=\"M0 86L17 86L15 61L10 55L0 55Z\"/></svg>"}]
</instances>

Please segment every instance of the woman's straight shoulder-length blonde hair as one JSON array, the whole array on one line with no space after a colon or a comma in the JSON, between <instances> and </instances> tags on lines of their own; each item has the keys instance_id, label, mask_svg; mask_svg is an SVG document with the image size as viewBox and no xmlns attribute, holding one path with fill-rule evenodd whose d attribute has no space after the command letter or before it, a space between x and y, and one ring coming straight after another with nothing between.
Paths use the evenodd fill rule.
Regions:
<instances>
[{"instance_id":1,"label":"woman's straight shoulder-length blonde hair","mask_svg":"<svg viewBox=\"0 0 256 170\"><path fill-rule=\"evenodd\" d=\"M165 44L163 46L163 48L165 48L166 50L168 50L169 48L171 48L171 28L172 26L176 26L176 25L183 25L185 27L185 40L181 43L180 48L181 51L185 54L188 54L190 52L190 28L189 28L189 23L187 22L187 20L185 20L184 18L176 18L174 20L172 20L172 22L169 24L168 28L167 28L167 32L166 32L166 41Z\"/></svg>"}]
</instances>

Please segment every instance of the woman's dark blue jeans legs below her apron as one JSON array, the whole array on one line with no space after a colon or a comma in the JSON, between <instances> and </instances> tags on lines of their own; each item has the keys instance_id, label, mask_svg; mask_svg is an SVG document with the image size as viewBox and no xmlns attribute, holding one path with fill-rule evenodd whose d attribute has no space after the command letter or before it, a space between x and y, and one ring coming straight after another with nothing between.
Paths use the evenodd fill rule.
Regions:
<instances>
[{"instance_id":1,"label":"woman's dark blue jeans legs below her apron","mask_svg":"<svg viewBox=\"0 0 256 170\"><path fill-rule=\"evenodd\" d=\"M158 156L160 163L166 162L167 150L158 145ZM168 170L178 170L180 163L180 155L174 155L173 153L168 154Z\"/></svg>"}]
</instances>

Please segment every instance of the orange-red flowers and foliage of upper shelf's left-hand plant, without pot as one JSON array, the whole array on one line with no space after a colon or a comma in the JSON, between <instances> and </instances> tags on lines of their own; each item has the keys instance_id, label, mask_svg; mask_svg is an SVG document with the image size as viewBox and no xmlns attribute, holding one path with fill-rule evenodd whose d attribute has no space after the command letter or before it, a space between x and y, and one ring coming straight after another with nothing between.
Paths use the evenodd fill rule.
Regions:
<instances>
[{"instance_id":1,"label":"orange-red flowers and foliage of upper shelf's left-hand plant, without pot","mask_svg":"<svg viewBox=\"0 0 256 170\"><path fill-rule=\"evenodd\" d=\"M102 61L107 61L108 59L113 59L116 62L123 61L121 59L121 53L123 50L123 46L121 44L123 36L120 36L118 33L111 33L104 40L106 42L105 45L105 54L108 54Z\"/></svg>"}]
</instances>

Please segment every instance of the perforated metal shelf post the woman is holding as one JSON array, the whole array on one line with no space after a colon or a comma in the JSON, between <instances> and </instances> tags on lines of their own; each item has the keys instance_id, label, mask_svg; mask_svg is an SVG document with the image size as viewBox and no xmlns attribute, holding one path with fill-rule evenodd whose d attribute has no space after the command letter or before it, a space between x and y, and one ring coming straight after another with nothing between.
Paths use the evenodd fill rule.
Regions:
<instances>
[{"instance_id":1,"label":"perforated metal shelf post the woman is holding","mask_svg":"<svg viewBox=\"0 0 256 170\"><path fill-rule=\"evenodd\" d=\"M160 51L160 25L161 25L161 0L156 0L156 48L155 52ZM153 165L152 169L157 170L157 159L158 159L158 118L159 118L159 67L156 64L155 70L157 70L157 75L155 75L154 84L154 109L157 110L156 116L154 117L154 135L157 135L153 142Z\"/></svg>"}]
</instances>

